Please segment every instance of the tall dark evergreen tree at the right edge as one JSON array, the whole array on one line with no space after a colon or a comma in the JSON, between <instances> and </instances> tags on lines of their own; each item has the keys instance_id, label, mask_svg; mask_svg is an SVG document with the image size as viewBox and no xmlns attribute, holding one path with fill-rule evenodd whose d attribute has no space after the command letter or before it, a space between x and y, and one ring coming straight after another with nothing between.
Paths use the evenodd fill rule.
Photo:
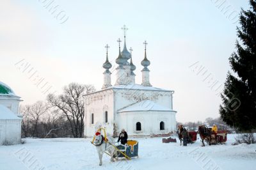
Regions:
<instances>
[{"instance_id":1,"label":"tall dark evergreen tree at the right edge","mask_svg":"<svg viewBox=\"0 0 256 170\"><path fill-rule=\"evenodd\" d=\"M242 9L237 27L237 52L229 58L234 73L228 72L221 94L221 119L239 130L256 129L256 0L250 10Z\"/></svg>"}]
</instances>

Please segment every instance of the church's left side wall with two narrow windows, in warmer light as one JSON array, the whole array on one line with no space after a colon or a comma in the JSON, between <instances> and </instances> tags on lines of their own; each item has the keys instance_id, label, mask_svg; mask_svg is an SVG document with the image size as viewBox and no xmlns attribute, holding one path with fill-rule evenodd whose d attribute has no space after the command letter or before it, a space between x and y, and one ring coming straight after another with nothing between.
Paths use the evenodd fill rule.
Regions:
<instances>
[{"instance_id":1,"label":"church's left side wall with two narrow windows, in warmer light","mask_svg":"<svg viewBox=\"0 0 256 170\"><path fill-rule=\"evenodd\" d=\"M113 134L113 90L100 91L86 97L86 127L84 134L92 136L95 134L95 124L97 122L106 127L109 134ZM106 123L106 111L108 112L108 122ZM92 123L93 114L93 123Z\"/></svg>"}]
</instances>

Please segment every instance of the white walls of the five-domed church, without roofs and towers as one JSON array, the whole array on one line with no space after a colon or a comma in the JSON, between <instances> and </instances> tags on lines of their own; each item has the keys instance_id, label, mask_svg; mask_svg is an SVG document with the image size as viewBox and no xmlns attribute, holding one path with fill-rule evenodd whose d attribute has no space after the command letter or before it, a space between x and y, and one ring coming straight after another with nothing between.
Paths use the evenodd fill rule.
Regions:
<instances>
[{"instance_id":1,"label":"white walls of the five-domed church, without roofs and towers","mask_svg":"<svg viewBox=\"0 0 256 170\"><path fill-rule=\"evenodd\" d=\"M102 123L102 127L106 127L109 134L113 134L114 123L117 125L117 133L119 133L122 128L125 128L130 135L167 134L175 129L175 112L117 113L118 110L143 100L152 100L156 104L173 109L172 91L108 89L87 95L85 105L86 127L84 129L84 135L93 136L95 134L95 123L97 122ZM104 123L105 111L108 111L108 123ZM94 115L93 124L91 122L92 113ZM144 130L134 132L134 128L136 128L134 126L136 126L136 122L139 120L142 121L141 124ZM166 127L163 131L159 131L159 123L161 121L164 121Z\"/></svg>"}]
</instances>

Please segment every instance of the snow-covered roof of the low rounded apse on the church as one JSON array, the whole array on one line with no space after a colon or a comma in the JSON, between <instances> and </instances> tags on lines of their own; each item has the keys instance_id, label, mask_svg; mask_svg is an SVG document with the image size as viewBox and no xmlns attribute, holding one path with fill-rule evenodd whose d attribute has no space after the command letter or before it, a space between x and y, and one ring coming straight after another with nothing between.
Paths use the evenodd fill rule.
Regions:
<instances>
[{"instance_id":1,"label":"snow-covered roof of the low rounded apse on the church","mask_svg":"<svg viewBox=\"0 0 256 170\"><path fill-rule=\"evenodd\" d=\"M134 111L172 111L168 107L163 105L156 104L151 100L143 100L141 102L129 105L120 109L118 112L134 112Z\"/></svg>"}]
</instances>

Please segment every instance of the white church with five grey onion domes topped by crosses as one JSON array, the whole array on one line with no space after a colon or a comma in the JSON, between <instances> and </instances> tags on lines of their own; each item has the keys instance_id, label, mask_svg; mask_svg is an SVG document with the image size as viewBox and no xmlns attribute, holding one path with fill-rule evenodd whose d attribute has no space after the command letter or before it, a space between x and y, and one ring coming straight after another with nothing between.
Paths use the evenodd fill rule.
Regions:
<instances>
[{"instance_id":1,"label":"white church with five grey onion domes topped by crosses","mask_svg":"<svg viewBox=\"0 0 256 170\"><path fill-rule=\"evenodd\" d=\"M124 26L124 32L127 28ZM148 136L154 134L169 134L176 127L176 111L173 111L172 90L155 88L150 84L150 61L147 59L147 42L145 55L141 61L141 84L136 84L131 52L126 47L124 34L124 48L116 58L116 82L111 83L111 63L108 59L108 45L106 45L106 62L104 84L102 90L85 96L85 125L84 135L91 137L95 134L96 123L101 123L109 134L119 135L124 128L129 136Z\"/></svg>"}]
</instances>

